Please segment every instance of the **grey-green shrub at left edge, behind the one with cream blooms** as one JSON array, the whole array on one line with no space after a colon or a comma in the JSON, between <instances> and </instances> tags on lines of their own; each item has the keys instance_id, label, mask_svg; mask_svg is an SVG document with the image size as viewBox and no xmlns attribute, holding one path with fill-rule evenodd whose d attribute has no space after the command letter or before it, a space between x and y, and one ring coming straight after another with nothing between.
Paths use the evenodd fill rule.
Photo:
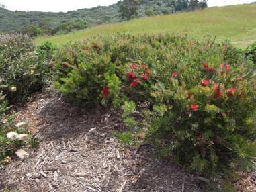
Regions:
<instances>
[{"instance_id":1,"label":"grey-green shrub at left edge, behind the one with cream blooms","mask_svg":"<svg viewBox=\"0 0 256 192\"><path fill-rule=\"evenodd\" d=\"M44 85L49 63L26 35L0 35L0 81L10 103L22 101Z\"/></svg>"}]
</instances>

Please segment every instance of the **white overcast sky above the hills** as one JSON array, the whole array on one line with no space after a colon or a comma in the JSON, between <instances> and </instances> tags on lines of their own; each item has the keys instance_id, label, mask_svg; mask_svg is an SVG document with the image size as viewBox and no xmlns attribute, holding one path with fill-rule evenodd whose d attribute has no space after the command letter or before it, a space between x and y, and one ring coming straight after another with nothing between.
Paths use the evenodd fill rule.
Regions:
<instances>
[{"instance_id":1,"label":"white overcast sky above the hills","mask_svg":"<svg viewBox=\"0 0 256 192\"><path fill-rule=\"evenodd\" d=\"M0 0L12 11L72 11L76 9L110 5L118 0ZM256 0L209 0L209 7L251 3Z\"/></svg>"}]
</instances>

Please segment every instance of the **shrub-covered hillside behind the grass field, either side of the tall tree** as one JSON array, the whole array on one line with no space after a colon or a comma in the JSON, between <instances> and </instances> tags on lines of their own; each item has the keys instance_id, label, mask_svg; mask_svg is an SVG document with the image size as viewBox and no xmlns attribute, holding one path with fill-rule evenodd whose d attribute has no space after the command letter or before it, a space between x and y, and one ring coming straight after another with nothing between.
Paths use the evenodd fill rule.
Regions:
<instances>
[{"instance_id":1,"label":"shrub-covered hillside behind the grass field, either side of the tall tree","mask_svg":"<svg viewBox=\"0 0 256 192\"><path fill-rule=\"evenodd\" d=\"M141 0L138 3L138 14L132 15L134 17L166 15L175 11L202 8L198 1L189 2L188 0ZM122 13L119 12L119 5L122 6L122 2L107 7L98 6L67 13L8 11L0 7L0 33L27 32L31 36L67 34L71 30L81 30L88 26L124 21L126 17L120 16Z\"/></svg>"}]
</instances>

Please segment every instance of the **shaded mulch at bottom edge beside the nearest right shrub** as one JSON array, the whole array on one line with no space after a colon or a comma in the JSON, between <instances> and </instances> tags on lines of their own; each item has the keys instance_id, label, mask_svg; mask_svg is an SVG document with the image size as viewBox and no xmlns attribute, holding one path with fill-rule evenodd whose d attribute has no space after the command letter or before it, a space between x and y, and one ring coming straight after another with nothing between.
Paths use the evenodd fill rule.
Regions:
<instances>
[{"instance_id":1,"label":"shaded mulch at bottom edge beside the nearest right shrub","mask_svg":"<svg viewBox=\"0 0 256 192\"><path fill-rule=\"evenodd\" d=\"M136 156L136 175L138 179L128 187L128 191L199 192L199 183L192 180L192 175L171 160L157 160L155 148L143 146Z\"/></svg>"}]
</instances>

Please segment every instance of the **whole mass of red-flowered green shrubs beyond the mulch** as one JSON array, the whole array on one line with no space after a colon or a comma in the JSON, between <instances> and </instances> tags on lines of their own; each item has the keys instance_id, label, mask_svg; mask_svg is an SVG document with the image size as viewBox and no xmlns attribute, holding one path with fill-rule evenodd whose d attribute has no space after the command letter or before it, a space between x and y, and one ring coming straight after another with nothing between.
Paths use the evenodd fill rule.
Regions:
<instances>
[{"instance_id":1,"label":"whole mass of red-flowered green shrubs beyond the mulch","mask_svg":"<svg viewBox=\"0 0 256 192\"><path fill-rule=\"evenodd\" d=\"M124 122L134 132L146 128L161 154L193 171L228 177L231 170L253 164L253 62L228 43L118 35L68 44L58 52L54 69L55 85L69 99L125 103ZM147 109L138 107L141 102Z\"/></svg>"}]
</instances>

